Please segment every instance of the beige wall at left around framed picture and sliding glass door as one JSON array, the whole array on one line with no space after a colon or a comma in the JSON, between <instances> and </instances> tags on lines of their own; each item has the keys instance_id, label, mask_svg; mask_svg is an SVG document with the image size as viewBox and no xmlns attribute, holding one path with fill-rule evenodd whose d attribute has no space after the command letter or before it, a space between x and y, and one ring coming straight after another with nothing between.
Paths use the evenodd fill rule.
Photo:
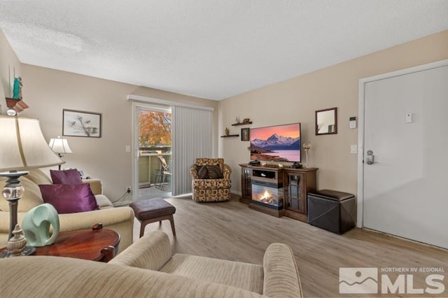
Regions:
<instances>
[{"instance_id":1,"label":"beige wall at left around framed picture and sliding glass door","mask_svg":"<svg viewBox=\"0 0 448 298\"><path fill-rule=\"evenodd\" d=\"M38 118L46 140L62 135L64 108L102 113L101 138L66 137L73 154L62 157L66 161L62 167L82 169L86 175L101 178L105 194L113 201L132 185L133 159L130 152L125 152L125 146L132 143L132 103L126 100L129 94L213 107L214 155L218 154L217 101L20 64L1 31L0 53L1 88L8 85L8 65L15 66L16 76L22 76L24 101L29 105L20 115ZM0 104L4 114L3 97Z\"/></svg>"}]
</instances>

